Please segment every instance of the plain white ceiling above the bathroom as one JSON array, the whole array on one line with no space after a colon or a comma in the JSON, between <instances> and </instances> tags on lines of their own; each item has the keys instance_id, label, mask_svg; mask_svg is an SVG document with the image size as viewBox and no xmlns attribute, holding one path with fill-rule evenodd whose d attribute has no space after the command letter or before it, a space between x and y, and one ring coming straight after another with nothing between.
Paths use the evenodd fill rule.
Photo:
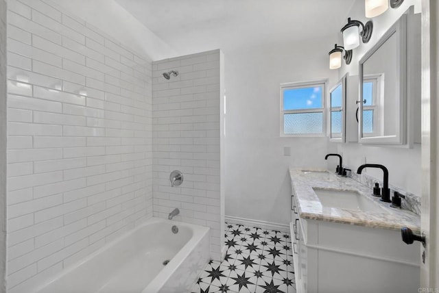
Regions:
<instances>
[{"instance_id":1,"label":"plain white ceiling above the bathroom","mask_svg":"<svg viewBox=\"0 0 439 293\"><path fill-rule=\"evenodd\" d=\"M185 54L336 38L355 0L116 1L171 48Z\"/></svg>"}]
</instances>

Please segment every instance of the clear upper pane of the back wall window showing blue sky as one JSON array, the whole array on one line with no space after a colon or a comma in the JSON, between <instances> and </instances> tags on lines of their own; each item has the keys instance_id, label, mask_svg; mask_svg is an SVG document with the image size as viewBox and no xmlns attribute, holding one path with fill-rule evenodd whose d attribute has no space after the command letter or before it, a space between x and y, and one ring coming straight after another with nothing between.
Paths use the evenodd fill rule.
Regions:
<instances>
[{"instance_id":1,"label":"clear upper pane of the back wall window showing blue sky","mask_svg":"<svg viewBox=\"0 0 439 293\"><path fill-rule=\"evenodd\" d=\"M283 110L318 109L322 107L322 87L283 90Z\"/></svg>"}]
</instances>

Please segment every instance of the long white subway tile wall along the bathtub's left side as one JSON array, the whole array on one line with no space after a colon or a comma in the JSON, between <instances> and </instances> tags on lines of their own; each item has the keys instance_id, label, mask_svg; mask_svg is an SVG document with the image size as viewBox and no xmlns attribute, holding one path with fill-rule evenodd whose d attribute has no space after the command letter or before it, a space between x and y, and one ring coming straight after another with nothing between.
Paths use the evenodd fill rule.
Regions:
<instances>
[{"instance_id":1,"label":"long white subway tile wall along the bathtub's left side","mask_svg":"<svg viewBox=\"0 0 439 293\"><path fill-rule=\"evenodd\" d=\"M152 216L152 62L53 2L8 6L8 292L16 293ZM211 130L184 134L210 149ZM209 154L185 166L204 160L196 168L213 171ZM189 174L191 187L201 183ZM204 196L215 176L204 175Z\"/></svg>"}]
</instances>

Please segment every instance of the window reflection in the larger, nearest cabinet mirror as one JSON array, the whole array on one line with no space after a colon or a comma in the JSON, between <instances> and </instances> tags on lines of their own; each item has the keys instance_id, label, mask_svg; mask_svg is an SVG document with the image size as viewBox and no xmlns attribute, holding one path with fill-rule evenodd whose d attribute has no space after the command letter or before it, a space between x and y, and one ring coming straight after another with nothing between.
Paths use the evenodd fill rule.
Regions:
<instances>
[{"instance_id":1,"label":"window reflection in the larger, nearest cabinet mirror","mask_svg":"<svg viewBox=\"0 0 439 293\"><path fill-rule=\"evenodd\" d=\"M377 136L380 123L383 120L379 111L381 103L380 86L383 84L382 75L370 75L363 81L363 135Z\"/></svg>"}]
</instances>

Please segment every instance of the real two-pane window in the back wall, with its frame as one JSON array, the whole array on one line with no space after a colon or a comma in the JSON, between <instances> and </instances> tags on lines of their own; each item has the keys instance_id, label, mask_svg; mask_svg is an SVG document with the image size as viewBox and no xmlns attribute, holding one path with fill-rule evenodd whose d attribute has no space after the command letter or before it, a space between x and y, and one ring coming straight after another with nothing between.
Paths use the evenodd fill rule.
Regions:
<instances>
[{"instance_id":1,"label":"real two-pane window in the back wall, with its frame","mask_svg":"<svg viewBox=\"0 0 439 293\"><path fill-rule=\"evenodd\" d=\"M325 82L281 85L281 136L323 136Z\"/></svg>"}]
</instances>

